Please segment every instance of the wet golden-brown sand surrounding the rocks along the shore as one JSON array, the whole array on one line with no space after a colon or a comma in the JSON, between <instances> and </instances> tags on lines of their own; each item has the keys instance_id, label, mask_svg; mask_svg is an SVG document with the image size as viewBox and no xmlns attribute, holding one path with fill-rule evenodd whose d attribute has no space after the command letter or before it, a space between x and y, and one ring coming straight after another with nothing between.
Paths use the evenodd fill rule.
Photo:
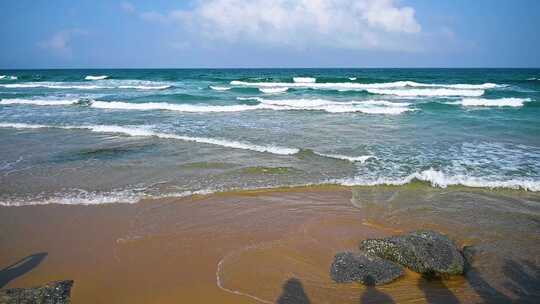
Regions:
<instances>
[{"instance_id":1,"label":"wet golden-brown sand surrounding the rocks along the shore","mask_svg":"<svg viewBox=\"0 0 540 304\"><path fill-rule=\"evenodd\" d=\"M418 203L446 196L461 203L429 208ZM473 197L471 202L480 202L480 197L514 200L511 209L522 202L525 209L518 213L524 219L514 223L515 238L510 240L504 229L484 229L491 224L482 220L491 218L489 213L471 223L466 216L470 212L463 206L478 207L463 203L469 202L460 200L463 197ZM423 186L314 187L138 204L0 207L0 268L4 269L0 287L73 279L73 303L503 303L520 297L538 299L538 201L535 194L434 191ZM504 208L494 214L501 212ZM515 222L516 216L508 220ZM506 225L499 218L495 221ZM460 246L487 244L481 247L481 261L475 261L467 277L443 281L428 281L413 272L377 288L330 280L329 266L338 251L353 250L365 238L418 228L447 233ZM480 228L486 231L475 230ZM530 276L520 274L522 280L516 281L521 294L504 288L512 279L508 274L498 275L508 265L496 252L512 242L527 251L514 252L520 256L512 257L530 266L525 271ZM491 246L494 243L503 245ZM4 268L33 254L38 255ZM513 269L519 271L519 267ZM294 301L287 300L291 298Z\"/></svg>"}]
</instances>

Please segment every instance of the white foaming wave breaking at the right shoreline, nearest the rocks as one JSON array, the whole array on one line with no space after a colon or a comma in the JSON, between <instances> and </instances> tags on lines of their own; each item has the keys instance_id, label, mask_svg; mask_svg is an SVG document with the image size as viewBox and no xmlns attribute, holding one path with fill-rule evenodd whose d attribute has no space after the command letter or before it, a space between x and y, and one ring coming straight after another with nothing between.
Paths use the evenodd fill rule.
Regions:
<instances>
[{"instance_id":1,"label":"white foaming wave breaking at the right shoreline, nearest the rocks","mask_svg":"<svg viewBox=\"0 0 540 304\"><path fill-rule=\"evenodd\" d=\"M473 188L507 188L523 189L527 191L540 191L540 182L531 179L496 180L485 177L474 177L467 175L447 175L441 171L434 170L433 168L421 172L415 172L402 178L383 177L375 180L369 180L357 177L352 179L334 180L332 181L332 183L337 183L343 186L400 186L409 184L414 180L428 182L433 187L440 188L461 185Z\"/></svg>"}]
</instances>

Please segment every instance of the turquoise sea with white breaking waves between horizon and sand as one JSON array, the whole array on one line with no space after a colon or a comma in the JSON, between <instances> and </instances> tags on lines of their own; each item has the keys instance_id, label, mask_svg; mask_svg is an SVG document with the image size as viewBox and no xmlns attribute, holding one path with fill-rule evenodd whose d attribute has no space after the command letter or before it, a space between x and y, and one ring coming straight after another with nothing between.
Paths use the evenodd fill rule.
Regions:
<instances>
[{"instance_id":1,"label":"turquoise sea with white breaking waves between horizon and sand","mask_svg":"<svg viewBox=\"0 0 540 304\"><path fill-rule=\"evenodd\" d=\"M416 180L540 190L540 69L0 75L3 205Z\"/></svg>"}]
</instances>

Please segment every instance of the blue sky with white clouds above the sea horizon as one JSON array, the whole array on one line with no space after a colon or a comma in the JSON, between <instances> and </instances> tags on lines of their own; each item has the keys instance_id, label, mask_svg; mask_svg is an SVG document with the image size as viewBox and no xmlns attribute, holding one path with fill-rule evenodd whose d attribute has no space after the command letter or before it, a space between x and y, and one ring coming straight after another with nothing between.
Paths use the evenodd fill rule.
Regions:
<instances>
[{"instance_id":1,"label":"blue sky with white clouds above the sea horizon","mask_svg":"<svg viewBox=\"0 0 540 304\"><path fill-rule=\"evenodd\" d=\"M540 1L0 1L1 69L197 67L540 67Z\"/></svg>"}]
</instances>

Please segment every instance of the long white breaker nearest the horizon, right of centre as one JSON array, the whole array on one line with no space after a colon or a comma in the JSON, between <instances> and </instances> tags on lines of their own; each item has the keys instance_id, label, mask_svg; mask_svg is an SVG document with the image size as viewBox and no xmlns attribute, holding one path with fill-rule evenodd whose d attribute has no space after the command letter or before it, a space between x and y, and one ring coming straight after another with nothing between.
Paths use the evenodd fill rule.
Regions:
<instances>
[{"instance_id":1,"label":"long white breaker nearest the horizon, right of centre","mask_svg":"<svg viewBox=\"0 0 540 304\"><path fill-rule=\"evenodd\" d=\"M487 90L498 87L504 87L506 85L500 85L495 83L484 84L430 84L419 83L414 81L395 81L395 82L382 82L382 83L356 83L356 82L326 82L326 83L298 83L298 82L246 82L233 80L230 82L233 86L247 86L257 88L278 88L278 87L292 87L292 88L309 88L309 89L325 89L325 90L368 90L368 89L392 89L392 88L440 88L451 90Z\"/></svg>"}]
</instances>

